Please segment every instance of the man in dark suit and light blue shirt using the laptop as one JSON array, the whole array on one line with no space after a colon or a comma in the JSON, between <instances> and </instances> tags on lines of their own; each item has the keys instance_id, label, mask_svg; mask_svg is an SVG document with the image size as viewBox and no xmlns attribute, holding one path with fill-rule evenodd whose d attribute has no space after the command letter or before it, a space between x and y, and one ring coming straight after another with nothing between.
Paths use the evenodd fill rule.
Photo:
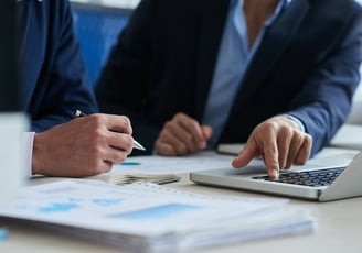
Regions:
<instances>
[{"instance_id":1,"label":"man in dark suit and light blue shirt using the laptop","mask_svg":"<svg viewBox=\"0 0 362 253\"><path fill-rule=\"evenodd\" d=\"M359 84L353 0L142 0L100 75L100 110L126 113L149 151L246 142L270 177L344 122Z\"/></svg>"}]
</instances>

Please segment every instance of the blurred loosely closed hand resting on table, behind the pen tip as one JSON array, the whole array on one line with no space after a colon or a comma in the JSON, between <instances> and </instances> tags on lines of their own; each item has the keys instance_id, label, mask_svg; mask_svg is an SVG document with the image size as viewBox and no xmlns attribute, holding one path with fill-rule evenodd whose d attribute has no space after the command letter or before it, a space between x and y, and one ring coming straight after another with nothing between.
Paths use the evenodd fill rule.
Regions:
<instances>
[{"instance_id":1,"label":"blurred loosely closed hand resting on table, behind the pen tip","mask_svg":"<svg viewBox=\"0 0 362 253\"><path fill-rule=\"evenodd\" d=\"M212 134L209 125L200 125L198 121L184 113L175 114L164 123L156 140L156 151L161 155L187 155L207 146Z\"/></svg>"}]
</instances>

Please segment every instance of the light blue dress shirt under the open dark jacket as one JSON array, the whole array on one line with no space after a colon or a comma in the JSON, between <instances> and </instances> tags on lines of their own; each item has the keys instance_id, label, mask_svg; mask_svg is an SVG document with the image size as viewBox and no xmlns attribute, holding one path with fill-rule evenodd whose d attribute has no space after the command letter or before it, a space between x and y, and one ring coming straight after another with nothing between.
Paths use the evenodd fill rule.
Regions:
<instances>
[{"instance_id":1,"label":"light blue dress shirt under the open dark jacket","mask_svg":"<svg viewBox=\"0 0 362 253\"><path fill-rule=\"evenodd\" d=\"M224 34L219 51L217 63L207 97L202 124L209 124L213 134L207 146L214 147L230 114L235 95L241 88L242 79L251 59L260 45L265 28L273 24L281 11L292 0L281 0L274 14L265 22L252 47L248 46L247 28L243 12L244 0L232 0ZM247 120L247 119L245 119Z\"/></svg>"}]
</instances>

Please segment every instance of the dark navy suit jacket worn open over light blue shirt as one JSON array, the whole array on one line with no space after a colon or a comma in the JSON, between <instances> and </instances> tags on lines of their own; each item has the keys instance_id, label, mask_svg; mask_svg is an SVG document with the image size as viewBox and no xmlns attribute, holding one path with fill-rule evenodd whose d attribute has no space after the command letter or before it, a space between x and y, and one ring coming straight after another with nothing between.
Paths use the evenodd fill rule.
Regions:
<instances>
[{"instance_id":1,"label":"dark navy suit jacket worn open over light blue shirt","mask_svg":"<svg viewBox=\"0 0 362 253\"><path fill-rule=\"evenodd\" d=\"M100 110L129 116L149 151L177 112L201 120L227 9L221 0L142 0L97 82ZM315 154L350 111L361 59L361 6L292 1L266 31L219 142L245 142L262 121L289 113Z\"/></svg>"}]
</instances>

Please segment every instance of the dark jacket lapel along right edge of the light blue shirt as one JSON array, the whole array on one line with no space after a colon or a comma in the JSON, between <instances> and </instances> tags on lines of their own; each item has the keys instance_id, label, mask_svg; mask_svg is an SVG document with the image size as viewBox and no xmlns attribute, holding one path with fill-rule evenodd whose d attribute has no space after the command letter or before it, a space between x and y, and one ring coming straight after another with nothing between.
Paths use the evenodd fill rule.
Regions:
<instances>
[{"instance_id":1,"label":"dark jacket lapel along right edge of the light blue shirt","mask_svg":"<svg viewBox=\"0 0 362 253\"><path fill-rule=\"evenodd\" d=\"M234 109L241 108L253 96L253 92L256 91L267 73L285 52L294 34L298 31L308 9L308 1L295 0L289 9L281 13L270 28L267 28L259 50L255 53L245 73Z\"/></svg>"}]
</instances>

